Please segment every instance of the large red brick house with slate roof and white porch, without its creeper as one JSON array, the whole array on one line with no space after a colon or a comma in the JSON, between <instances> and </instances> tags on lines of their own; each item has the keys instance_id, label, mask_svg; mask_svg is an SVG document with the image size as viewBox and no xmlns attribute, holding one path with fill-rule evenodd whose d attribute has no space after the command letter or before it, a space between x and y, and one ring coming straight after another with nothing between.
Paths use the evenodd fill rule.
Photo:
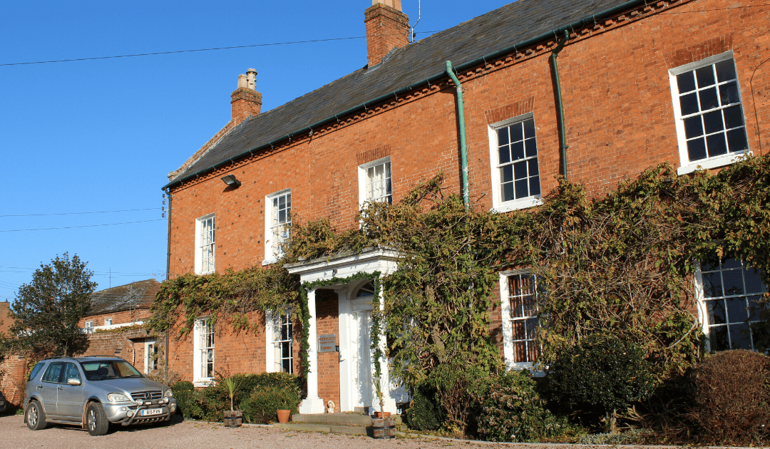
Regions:
<instances>
[{"instance_id":1,"label":"large red brick house with slate roof and white porch, without its creeper","mask_svg":"<svg viewBox=\"0 0 770 449\"><path fill-rule=\"evenodd\" d=\"M537 206L560 173L599 195L665 161L685 174L764 154L768 18L770 8L753 0L519 0L410 43L400 2L373 0L363 69L264 113L256 71L240 75L230 121L169 173L169 273L269 265L293 216L357 226L362 203L398 201L439 170L455 192L505 213ZM390 273L395 262L377 250L288 268L314 281ZM502 306L492 317L511 368L531 366L532 336L521 323L533 317L513 310L526 275L500 273ZM764 286L739 262L696 277L705 333L729 341L738 321L715 320L725 298L702 286L740 280L743 301ZM328 400L342 411L372 405L367 285L308 293L301 412L323 413ZM264 333L235 335L201 321L191 338L172 341L169 367L200 385L219 370L296 369L290 322L267 323ZM400 400L403 391L387 392L386 410Z\"/></svg>"}]
</instances>

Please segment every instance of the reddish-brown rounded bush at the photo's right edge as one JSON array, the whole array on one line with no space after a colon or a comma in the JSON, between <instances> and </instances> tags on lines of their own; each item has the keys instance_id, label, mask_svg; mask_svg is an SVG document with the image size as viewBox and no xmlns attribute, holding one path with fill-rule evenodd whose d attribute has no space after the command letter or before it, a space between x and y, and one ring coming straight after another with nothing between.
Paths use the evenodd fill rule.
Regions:
<instances>
[{"instance_id":1,"label":"reddish-brown rounded bush at the photo's right edge","mask_svg":"<svg viewBox=\"0 0 770 449\"><path fill-rule=\"evenodd\" d=\"M768 357L748 350L718 353L695 370L695 386L695 420L707 444L768 442Z\"/></svg>"}]
</instances>

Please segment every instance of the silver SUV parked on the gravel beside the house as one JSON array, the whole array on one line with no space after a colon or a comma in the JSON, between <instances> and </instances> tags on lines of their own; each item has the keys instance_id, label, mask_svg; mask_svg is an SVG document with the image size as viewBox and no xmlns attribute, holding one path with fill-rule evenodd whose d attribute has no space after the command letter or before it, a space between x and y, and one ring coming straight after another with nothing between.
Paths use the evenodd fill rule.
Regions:
<instances>
[{"instance_id":1,"label":"silver SUV parked on the gravel beside the house","mask_svg":"<svg viewBox=\"0 0 770 449\"><path fill-rule=\"evenodd\" d=\"M171 388L142 376L120 357L49 357L27 380L24 421L32 431L49 423L77 424L93 436L109 424L168 422L176 411Z\"/></svg>"}]
</instances>

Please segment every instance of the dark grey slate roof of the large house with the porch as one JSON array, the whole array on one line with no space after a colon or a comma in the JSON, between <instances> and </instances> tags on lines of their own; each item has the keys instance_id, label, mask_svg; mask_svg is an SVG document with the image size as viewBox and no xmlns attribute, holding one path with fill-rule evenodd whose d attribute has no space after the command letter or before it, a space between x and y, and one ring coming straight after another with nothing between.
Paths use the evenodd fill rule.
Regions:
<instances>
[{"instance_id":1,"label":"dark grey slate roof of the large house with the porch","mask_svg":"<svg viewBox=\"0 0 770 449\"><path fill-rule=\"evenodd\" d=\"M359 69L245 120L168 186L381 95L443 75L447 60L457 68L531 39L547 39L547 34L567 25L593 22L594 16L606 16L639 3L643 0L519 0L505 5L398 49L378 65Z\"/></svg>"}]
</instances>

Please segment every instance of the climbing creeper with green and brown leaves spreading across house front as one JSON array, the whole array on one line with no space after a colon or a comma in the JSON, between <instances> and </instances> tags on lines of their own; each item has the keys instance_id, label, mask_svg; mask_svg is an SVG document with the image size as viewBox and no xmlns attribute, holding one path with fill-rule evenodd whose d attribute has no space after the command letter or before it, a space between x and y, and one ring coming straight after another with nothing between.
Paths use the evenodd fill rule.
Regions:
<instances>
[{"instance_id":1,"label":"climbing creeper with green and brown leaves spreading across house front","mask_svg":"<svg viewBox=\"0 0 770 449\"><path fill-rule=\"evenodd\" d=\"M347 230L336 230L328 218L293 225L290 249L272 268L166 281L151 326L184 335L198 317L209 316L256 332L263 323L250 312L295 304L306 370L306 290L353 278L300 286L283 264L387 247L400 254L399 268L381 279L384 310L373 313L372 349L379 350L374 339L381 327L392 378L409 388L437 387L450 420L460 422L469 410L457 404L484 394L458 387L463 379L502 368L498 336L490 335L500 271L526 268L539 278L541 362L588 335L608 333L638 343L659 377L681 372L701 355L691 313L698 260L741 258L768 283L768 156L687 176L661 164L595 198L562 179L541 206L506 214L480 201L466 208L443 179L420 183L397 204L368 204L354 217L360 226ZM770 332L765 335L768 342L760 344L767 347Z\"/></svg>"}]
</instances>

